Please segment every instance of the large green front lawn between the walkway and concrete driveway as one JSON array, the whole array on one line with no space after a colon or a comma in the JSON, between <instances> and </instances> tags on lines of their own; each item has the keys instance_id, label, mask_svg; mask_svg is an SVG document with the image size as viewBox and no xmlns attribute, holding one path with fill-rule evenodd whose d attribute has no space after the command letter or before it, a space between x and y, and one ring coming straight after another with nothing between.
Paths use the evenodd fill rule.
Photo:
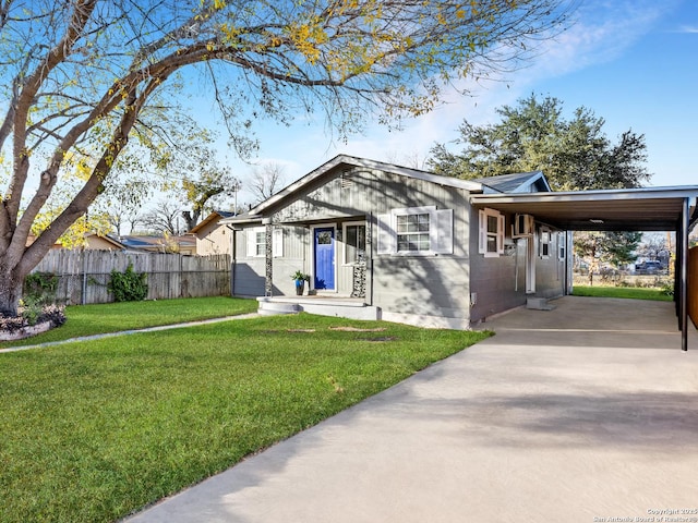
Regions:
<instances>
[{"instance_id":1,"label":"large green front lawn between the walkway and concrete driveway","mask_svg":"<svg viewBox=\"0 0 698 523\"><path fill-rule=\"evenodd\" d=\"M488 336L299 315L0 354L0 521L115 521Z\"/></svg>"}]
</instances>

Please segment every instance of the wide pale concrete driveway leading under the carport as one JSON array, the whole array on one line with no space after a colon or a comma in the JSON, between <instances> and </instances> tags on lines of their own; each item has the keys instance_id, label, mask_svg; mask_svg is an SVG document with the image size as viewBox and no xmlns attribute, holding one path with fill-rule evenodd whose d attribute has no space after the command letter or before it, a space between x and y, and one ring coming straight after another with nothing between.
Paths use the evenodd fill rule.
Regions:
<instances>
[{"instance_id":1,"label":"wide pale concrete driveway leading under the carport","mask_svg":"<svg viewBox=\"0 0 698 523\"><path fill-rule=\"evenodd\" d=\"M695 329L552 303L129 521L698 522Z\"/></svg>"}]
</instances>

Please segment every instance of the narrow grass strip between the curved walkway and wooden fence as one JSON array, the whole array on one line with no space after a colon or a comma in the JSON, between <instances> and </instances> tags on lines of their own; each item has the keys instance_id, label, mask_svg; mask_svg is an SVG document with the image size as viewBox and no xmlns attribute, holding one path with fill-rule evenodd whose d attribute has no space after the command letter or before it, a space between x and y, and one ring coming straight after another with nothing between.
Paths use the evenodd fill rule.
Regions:
<instances>
[{"instance_id":1,"label":"narrow grass strip between the curved walkway and wooden fence","mask_svg":"<svg viewBox=\"0 0 698 523\"><path fill-rule=\"evenodd\" d=\"M25 340L0 342L0 349L158 325L236 316L254 313L256 309L257 302L255 300L227 296L73 305L65 308L68 321L60 328Z\"/></svg>"}]
</instances>

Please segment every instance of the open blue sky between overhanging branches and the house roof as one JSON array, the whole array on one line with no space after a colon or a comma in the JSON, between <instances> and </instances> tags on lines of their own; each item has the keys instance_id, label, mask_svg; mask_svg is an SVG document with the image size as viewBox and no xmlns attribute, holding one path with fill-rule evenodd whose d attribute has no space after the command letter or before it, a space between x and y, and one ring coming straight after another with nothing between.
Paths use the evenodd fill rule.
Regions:
<instances>
[{"instance_id":1,"label":"open blue sky between overhanging branches and the house roof","mask_svg":"<svg viewBox=\"0 0 698 523\"><path fill-rule=\"evenodd\" d=\"M472 97L454 94L402 132L371 124L345 144L332 142L323 121L268 122L256 161L284 166L287 183L338 154L413 166L434 143L454 141L464 119L496 122L495 108L535 93L562 100L567 117L580 106L593 110L613 142L628 129L643 134L650 185L698 185L698 2L580 0L577 19L530 66L505 82L472 84ZM244 181L249 166L231 167Z\"/></svg>"}]
</instances>

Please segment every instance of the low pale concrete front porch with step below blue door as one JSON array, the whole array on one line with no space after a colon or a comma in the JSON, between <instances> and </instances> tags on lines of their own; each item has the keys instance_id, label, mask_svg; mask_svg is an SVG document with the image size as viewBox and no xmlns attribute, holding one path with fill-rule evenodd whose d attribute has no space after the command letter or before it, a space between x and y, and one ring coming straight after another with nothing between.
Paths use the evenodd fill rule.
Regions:
<instances>
[{"instance_id":1,"label":"low pale concrete front porch with step below blue door","mask_svg":"<svg viewBox=\"0 0 698 523\"><path fill-rule=\"evenodd\" d=\"M381 319L381 308L366 304L363 297L261 296L257 297L257 302L260 303L258 313L265 316L310 313L349 319Z\"/></svg>"}]
</instances>

